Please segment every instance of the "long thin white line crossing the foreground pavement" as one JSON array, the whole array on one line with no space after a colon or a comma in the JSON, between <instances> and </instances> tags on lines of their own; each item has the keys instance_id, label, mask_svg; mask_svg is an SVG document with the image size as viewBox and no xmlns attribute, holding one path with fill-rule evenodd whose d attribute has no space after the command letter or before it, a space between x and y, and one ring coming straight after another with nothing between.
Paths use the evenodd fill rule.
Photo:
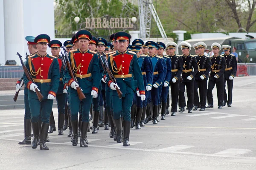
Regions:
<instances>
[{"instance_id":1,"label":"long thin white line crossing the foreground pavement","mask_svg":"<svg viewBox=\"0 0 256 170\"><path fill-rule=\"evenodd\" d=\"M0 140L10 140L10 141L20 141L18 139L5 139L0 138ZM60 145L69 145L73 147L71 142L65 143L55 143L55 142L47 142L47 144L60 144ZM76 146L79 147L79 146ZM173 151L173 152L165 152L164 150L151 150L151 149L138 149L138 148L131 148L131 147L108 147L108 146L99 146L99 145L88 145L88 147L98 147L98 148L107 148L107 149L122 149L122 150L136 150L136 151L145 151L145 152L159 152L159 153L177 153L177 154L185 154L185 155L195 155L195 156L212 156L212 157L223 157L223 158L235 158L235 159L255 159L256 157L246 157L246 156L228 156L228 155L215 155L215 154L207 154L207 153L192 153L192 152L180 152L180 151Z\"/></svg>"}]
</instances>

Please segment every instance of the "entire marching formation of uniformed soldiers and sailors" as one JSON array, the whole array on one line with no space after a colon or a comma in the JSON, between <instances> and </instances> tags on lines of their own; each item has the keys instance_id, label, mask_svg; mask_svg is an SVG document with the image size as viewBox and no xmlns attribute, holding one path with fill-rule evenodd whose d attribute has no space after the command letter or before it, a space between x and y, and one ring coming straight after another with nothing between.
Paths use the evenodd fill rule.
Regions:
<instances>
[{"instance_id":1,"label":"entire marching formation of uniformed soldiers and sailors","mask_svg":"<svg viewBox=\"0 0 256 170\"><path fill-rule=\"evenodd\" d=\"M169 107L171 116L178 105L180 113L185 108L188 113L213 108L215 84L218 108L232 105L237 61L229 45L213 43L214 55L208 57L204 42L193 45L196 54L192 55L192 45L183 41L183 54L177 55L175 42L135 39L130 45L131 35L126 32L112 34L111 43L87 30L78 31L63 45L47 34L25 39L30 55L23 63L18 54L24 75L16 84L17 91L25 84L25 138L19 144L31 144L33 149L40 145L40 150L49 150L48 133L56 131L53 99L58 107L58 135L69 129L71 144L80 147L88 147L87 133L96 135L99 127L109 130L117 143L129 146L131 128L165 120ZM221 48L223 55L219 55Z\"/></svg>"}]
</instances>

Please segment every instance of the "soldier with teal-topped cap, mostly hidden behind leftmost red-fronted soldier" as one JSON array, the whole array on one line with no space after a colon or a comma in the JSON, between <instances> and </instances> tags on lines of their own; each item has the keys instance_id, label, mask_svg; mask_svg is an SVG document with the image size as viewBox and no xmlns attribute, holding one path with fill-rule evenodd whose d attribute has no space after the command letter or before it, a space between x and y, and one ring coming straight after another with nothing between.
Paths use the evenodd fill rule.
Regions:
<instances>
[{"instance_id":1,"label":"soldier with teal-topped cap, mostly hidden behind leftmost red-fronted soldier","mask_svg":"<svg viewBox=\"0 0 256 170\"><path fill-rule=\"evenodd\" d=\"M38 49L36 43L34 42L35 37L26 36L25 37L30 54L35 54ZM24 79L24 78L21 78ZM16 83L16 89L20 89L20 80ZM23 80L24 81L24 80ZM19 142L19 144L31 144L31 113L29 108L29 99L28 99L28 88L24 88L24 105L25 105L25 115L24 115L24 140ZM40 120L41 121L41 120Z\"/></svg>"}]
</instances>

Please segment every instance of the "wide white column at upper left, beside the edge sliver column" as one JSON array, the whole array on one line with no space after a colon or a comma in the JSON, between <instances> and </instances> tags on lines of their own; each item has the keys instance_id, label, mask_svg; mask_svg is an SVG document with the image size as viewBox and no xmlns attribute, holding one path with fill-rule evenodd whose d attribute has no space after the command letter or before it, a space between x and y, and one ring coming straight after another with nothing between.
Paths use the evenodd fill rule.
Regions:
<instances>
[{"instance_id":1,"label":"wide white column at upper left, beside the edge sliver column","mask_svg":"<svg viewBox=\"0 0 256 170\"><path fill-rule=\"evenodd\" d=\"M23 0L3 0L5 61L15 60L20 65L17 52L24 56Z\"/></svg>"}]
</instances>

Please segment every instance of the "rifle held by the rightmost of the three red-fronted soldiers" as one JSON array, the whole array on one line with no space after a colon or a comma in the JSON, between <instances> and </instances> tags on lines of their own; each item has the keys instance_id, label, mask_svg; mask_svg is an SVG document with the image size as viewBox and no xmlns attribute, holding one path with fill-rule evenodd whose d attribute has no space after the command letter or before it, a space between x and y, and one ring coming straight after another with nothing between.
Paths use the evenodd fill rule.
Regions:
<instances>
[{"instance_id":1,"label":"rifle held by the rightmost of the three red-fronted soldiers","mask_svg":"<svg viewBox=\"0 0 256 170\"><path fill-rule=\"evenodd\" d=\"M100 58L100 61L101 61L101 63L102 63L102 67L103 67L104 71L105 71L106 73L108 73L109 79L111 79L111 81L116 84L116 92L117 92L117 94L118 94L119 99L122 99L122 91L120 91L120 89L118 88L116 79L115 79L115 77L113 76L113 73L111 72L111 70L109 69L108 61L107 61L106 55L105 55L104 53L99 54L99 58Z\"/></svg>"}]
</instances>

